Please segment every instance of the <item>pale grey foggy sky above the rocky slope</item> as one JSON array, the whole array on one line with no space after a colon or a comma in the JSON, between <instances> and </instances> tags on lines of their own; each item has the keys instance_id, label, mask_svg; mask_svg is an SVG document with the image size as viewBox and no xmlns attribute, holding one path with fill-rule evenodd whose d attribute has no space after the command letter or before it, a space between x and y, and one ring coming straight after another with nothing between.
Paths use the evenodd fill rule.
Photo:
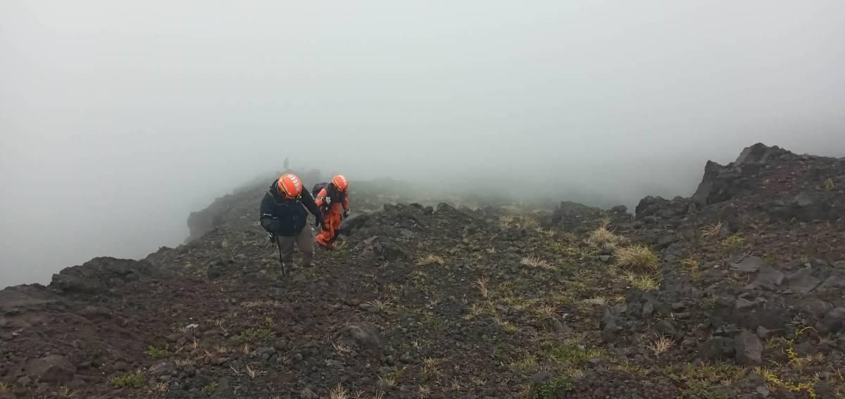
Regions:
<instances>
[{"instance_id":1,"label":"pale grey foggy sky above the rocky slope","mask_svg":"<svg viewBox=\"0 0 845 399\"><path fill-rule=\"evenodd\" d=\"M285 156L687 195L757 141L845 155L843 87L842 1L5 0L0 287L175 245Z\"/></svg>"}]
</instances>

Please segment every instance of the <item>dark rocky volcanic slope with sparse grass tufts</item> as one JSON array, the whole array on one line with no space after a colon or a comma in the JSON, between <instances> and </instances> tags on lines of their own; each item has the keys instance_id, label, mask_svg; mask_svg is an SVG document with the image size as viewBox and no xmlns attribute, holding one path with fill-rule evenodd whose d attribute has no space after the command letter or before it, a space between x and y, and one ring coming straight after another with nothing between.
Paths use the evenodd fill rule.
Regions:
<instances>
[{"instance_id":1,"label":"dark rocky volcanic slope with sparse grass tufts","mask_svg":"<svg viewBox=\"0 0 845 399\"><path fill-rule=\"evenodd\" d=\"M843 159L755 145L635 215L361 183L286 276L264 185L0 291L0 398L845 397Z\"/></svg>"}]
</instances>

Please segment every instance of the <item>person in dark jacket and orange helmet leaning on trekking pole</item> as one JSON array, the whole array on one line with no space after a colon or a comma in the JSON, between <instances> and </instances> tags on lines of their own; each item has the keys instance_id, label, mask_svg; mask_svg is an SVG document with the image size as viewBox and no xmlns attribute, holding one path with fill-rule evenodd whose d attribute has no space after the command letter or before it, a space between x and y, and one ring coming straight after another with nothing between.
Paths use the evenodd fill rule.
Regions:
<instances>
[{"instance_id":1,"label":"person in dark jacket and orange helmet leaning on trekking pole","mask_svg":"<svg viewBox=\"0 0 845 399\"><path fill-rule=\"evenodd\" d=\"M282 273L285 264L293 261L293 244L296 243L303 254L303 267L312 265L313 228L307 226L308 213L306 208L317 218L317 222L324 223L323 213L314 203L313 196L308 190L303 190L303 182L293 174L282 175L264 194L261 199L261 227L270 232L270 240L279 248L279 261Z\"/></svg>"}]
</instances>

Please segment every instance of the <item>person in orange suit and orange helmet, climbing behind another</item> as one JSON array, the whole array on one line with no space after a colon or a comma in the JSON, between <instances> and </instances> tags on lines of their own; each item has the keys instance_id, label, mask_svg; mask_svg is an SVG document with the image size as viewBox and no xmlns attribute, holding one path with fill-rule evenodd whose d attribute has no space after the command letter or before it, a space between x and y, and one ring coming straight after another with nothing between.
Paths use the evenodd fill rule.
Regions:
<instances>
[{"instance_id":1,"label":"person in orange suit and orange helmet, climbing behind another","mask_svg":"<svg viewBox=\"0 0 845 399\"><path fill-rule=\"evenodd\" d=\"M317 206L323 210L325 223L323 231L317 235L317 243L325 248L335 248L336 233L341 228L341 220L349 216L348 189L349 181L346 180L346 176L337 175L331 179L330 183L318 183L311 190Z\"/></svg>"}]
</instances>

